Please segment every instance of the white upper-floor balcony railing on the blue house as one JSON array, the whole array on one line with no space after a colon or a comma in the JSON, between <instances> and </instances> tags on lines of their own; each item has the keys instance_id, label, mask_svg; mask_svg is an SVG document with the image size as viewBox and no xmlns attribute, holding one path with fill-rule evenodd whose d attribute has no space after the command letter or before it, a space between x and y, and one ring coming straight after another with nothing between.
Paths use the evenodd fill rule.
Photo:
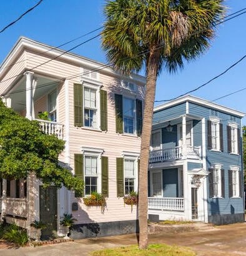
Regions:
<instances>
[{"instance_id":1,"label":"white upper-floor balcony railing on the blue house","mask_svg":"<svg viewBox=\"0 0 246 256\"><path fill-rule=\"evenodd\" d=\"M187 146L186 151L187 154L184 154L185 150L183 147L153 150L149 153L149 163L201 158L201 147Z\"/></svg>"}]
</instances>

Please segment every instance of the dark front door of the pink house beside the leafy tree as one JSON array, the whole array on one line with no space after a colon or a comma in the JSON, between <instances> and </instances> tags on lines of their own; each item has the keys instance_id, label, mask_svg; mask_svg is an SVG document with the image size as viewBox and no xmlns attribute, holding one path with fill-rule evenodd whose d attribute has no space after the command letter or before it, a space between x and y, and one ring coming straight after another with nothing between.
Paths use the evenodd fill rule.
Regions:
<instances>
[{"instance_id":1,"label":"dark front door of the pink house beside the leafy tree","mask_svg":"<svg viewBox=\"0 0 246 256\"><path fill-rule=\"evenodd\" d=\"M46 225L42 230L42 239L56 236L57 232L57 189L54 186L39 187L40 220Z\"/></svg>"}]
</instances>

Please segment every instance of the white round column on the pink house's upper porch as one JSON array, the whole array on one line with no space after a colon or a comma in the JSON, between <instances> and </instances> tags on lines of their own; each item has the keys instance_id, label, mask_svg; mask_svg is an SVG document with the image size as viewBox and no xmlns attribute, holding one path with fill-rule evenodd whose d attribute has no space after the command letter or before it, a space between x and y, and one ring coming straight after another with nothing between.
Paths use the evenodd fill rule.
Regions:
<instances>
[{"instance_id":1,"label":"white round column on the pink house's upper porch","mask_svg":"<svg viewBox=\"0 0 246 256\"><path fill-rule=\"evenodd\" d=\"M32 120L32 82L33 72L27 71L24 73L26 76L26 118Z\"/></svg>"}]
</instances>

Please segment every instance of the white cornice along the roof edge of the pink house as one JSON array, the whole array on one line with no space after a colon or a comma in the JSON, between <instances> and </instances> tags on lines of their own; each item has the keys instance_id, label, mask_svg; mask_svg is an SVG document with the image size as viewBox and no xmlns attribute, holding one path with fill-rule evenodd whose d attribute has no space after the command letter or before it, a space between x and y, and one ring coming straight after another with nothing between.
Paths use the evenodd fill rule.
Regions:
<instances>
[{"instance_id":1,"label":"white cornice along the roof edge of the pink house","mask_svg":"<svg viewBox=\"0 0 246 256\"><path fill-rule=\"evenodd\" d=\"M92 59L88 59L86 57L79 56L78 54L74 54L71 52L66 52L62 49L56 49L56 47L48 46L47 44L42 44L41 42L34 41L32 39L26 38L26 37L20 37L19 40L14 44L14 47L12 47L9 54L6 56L4 61L2 62L0 66L0 79L2 76L2 73L4 71L4 68L9 66L9 64L13 61L14 57L19 54L24 49L31 49L32 51L38 51L38 52L46 52L47 54L51 55L52 57L56 57L64 53L60 59L64 59L66 61L71 61L74 64L79 64L84 67L88 67L89 69L100 69L102 72L105 72L107 74L111 74L112 76L117 76L119 78L122 78L121 74L114 71L110 67L105 67L106 64L102 62L97 62ZM65 53L66 52L66 53ZM102 67L104 67L102 69ZM135 82L139 82L142 85L145 85L146 80L145 77L140 76L138 74L130 74L129 76L125 77L129 79L132 79Z\"/></svg>"}]
</instances>

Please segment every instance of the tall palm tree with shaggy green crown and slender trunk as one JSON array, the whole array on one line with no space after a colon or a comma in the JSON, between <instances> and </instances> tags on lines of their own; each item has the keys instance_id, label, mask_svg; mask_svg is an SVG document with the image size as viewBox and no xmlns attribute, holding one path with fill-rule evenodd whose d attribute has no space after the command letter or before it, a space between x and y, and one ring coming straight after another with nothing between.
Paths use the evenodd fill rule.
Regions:
<instances>
[{"instance_id":1,"label":"tall palm tree with shaggy green crown and slender trunk","mask_svg":"<svg viewBox=\"0 0 246 256\"><path fill-rule=\"evenodd\" d=\"M139 248L147 238L147 171L157 76L200 56L224 16L224 0L107 0L102 47L120 72L145 69L146 90L139 171Z\"/></svg>"}]
</instances>

